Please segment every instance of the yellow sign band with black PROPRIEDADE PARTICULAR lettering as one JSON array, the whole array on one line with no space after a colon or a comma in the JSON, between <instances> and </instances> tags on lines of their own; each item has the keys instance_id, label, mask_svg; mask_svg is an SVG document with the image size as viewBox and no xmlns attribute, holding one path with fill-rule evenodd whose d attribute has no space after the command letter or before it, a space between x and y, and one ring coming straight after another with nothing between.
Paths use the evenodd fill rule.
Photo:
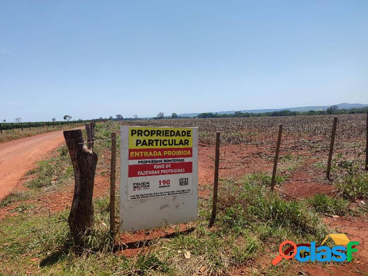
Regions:
<instances>
[{"instance_id":1,"label":"yellow sign band with black PROPRIEDADE PARTICULAR lettering","mask_svg":"<svg viewBox=\"0 0 368 276\"><path fill-rule=\"evenodd\" d=\"M135 146L189 146L190 130L158 130L131 129L131 137L135 138ZM142 137L142 138L140 138ZM155 139L153 137L168 137ZM171 138L171 139L170 139ZM177 139L180 138L180 139Z\"/></svg>"}]
</instances>

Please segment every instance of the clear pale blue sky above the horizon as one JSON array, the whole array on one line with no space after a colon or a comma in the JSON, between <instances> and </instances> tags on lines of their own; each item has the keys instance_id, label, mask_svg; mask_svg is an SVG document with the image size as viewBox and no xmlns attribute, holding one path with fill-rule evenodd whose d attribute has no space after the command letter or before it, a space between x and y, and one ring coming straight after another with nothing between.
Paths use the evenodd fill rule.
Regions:
<instances>
[{"instance_id":1,"label":"clear pale blue sky above the horizon","mask_svg":"<svg viewBox=\"0 0 368 276\"><path fill-rule=\"evenodd\" d=\"M0 1L14 121L368 104L368 1Z\"/></svg>"}]
</instances>

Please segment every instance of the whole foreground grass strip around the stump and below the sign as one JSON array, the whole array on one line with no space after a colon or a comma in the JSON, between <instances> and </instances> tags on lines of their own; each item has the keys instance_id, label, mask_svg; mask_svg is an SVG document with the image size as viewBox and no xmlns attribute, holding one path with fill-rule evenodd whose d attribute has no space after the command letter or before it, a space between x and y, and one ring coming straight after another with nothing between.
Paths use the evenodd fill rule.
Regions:
<instances>
[{"instance_id":1,"label":"whole foreground grass strip around the stump and below the sign","mask_svg":"<svg viewBox=\"0 0 368 276\"><path fill-rule=\"evenodd\" d=\"M279 184L283 180L279 179ZM32 212L0 221L0 273L24 275L226 275L234 267L250 266L260 254L276 254L288 238L308 242L324 238L325 228L315 213L300 202L286 201L269 191L269 176L246 175L220 185L217 221L209 229L211 204L200 201L199 219L192 231L176 232L138 248L134 257L116 252L108 231L108 197L94 200L95 225L85 236L85 249L73 247L63 211L49 218ZM189 251L189 259L184 252ZM253 266L253 265L252 265ZM283 275L287 262L260 268L252 275Z\"/></svg>"}]
</instances>

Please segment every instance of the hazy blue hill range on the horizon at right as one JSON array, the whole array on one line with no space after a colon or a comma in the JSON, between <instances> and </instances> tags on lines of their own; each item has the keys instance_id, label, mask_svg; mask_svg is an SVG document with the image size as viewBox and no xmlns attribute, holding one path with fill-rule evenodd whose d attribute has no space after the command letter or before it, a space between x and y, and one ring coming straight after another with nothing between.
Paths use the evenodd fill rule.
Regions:
<instances>
[{"instance_id":1,"label":"hazy blue hill range on the horizon at right","mask_svg":"<svg viewBox=\"0 0 368 276\"><path fill-rule=\"evenodd\" d=\"M339 109L352 109L352 108L365 108L368 107L367 105L364 104L347 104L347 103L342 103L342 104L338 104L336 105L338 106ZM309 111L309 110L326 110L331 106L310 106L310 107L298 107L298 108L285 108L285 109L254 109L254 110L230 110L230 111L218 111L218 114L234 114L235 111L241 111L243 113L264 113L264 112L274 112L274 111L281 111L281 110L290 110L290 111ZM197 116L199 114L201 114L203 112L199 112L199 113L183 113L183 114L178 114L178 116L183 116L183 117L194 117ZM215 113L215 112L212 112Z\"/></svg>"}]
</instances>

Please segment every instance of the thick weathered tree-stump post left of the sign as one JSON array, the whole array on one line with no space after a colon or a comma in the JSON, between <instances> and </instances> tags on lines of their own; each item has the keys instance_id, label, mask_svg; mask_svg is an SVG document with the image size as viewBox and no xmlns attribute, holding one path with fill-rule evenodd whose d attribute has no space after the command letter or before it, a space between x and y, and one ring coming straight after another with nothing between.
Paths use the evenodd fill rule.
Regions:
<instances>
[{"instance_id":1,"label":"thick weathered tree-stump post left of the sign","mask_svg":"<svg viewBox=\"0 0 368 276\"><path fill-rule=\"evenodd\" d=\"M64 138L75 176L74 196L68 223L75 242L79 244L86 230L93 226L92 195L97 154L84 145L80 129L64 131Z\"/></svg>"}]
</instances>

